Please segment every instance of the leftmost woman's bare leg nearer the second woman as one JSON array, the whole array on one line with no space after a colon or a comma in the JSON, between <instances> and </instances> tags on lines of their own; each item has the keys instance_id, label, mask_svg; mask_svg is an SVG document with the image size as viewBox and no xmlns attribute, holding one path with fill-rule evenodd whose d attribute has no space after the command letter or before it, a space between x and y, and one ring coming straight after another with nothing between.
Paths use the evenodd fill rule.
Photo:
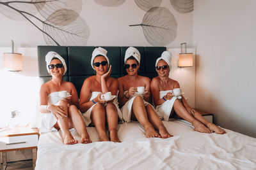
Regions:
<instances>
[{"instance_id":1,"label":"leftmost woman's bare leg nearer the second woman","mask_svg":"<svg viewBox=\"0 0 256 170\"><path fill-rule=\"evenodd\" d=\"M79 113L75 105L69 106L68 115L71 118L71 124L78 132L81 137L81 143L92 143L88 132L86 131L86 127L84 124L84 120L82 115Z\"/></svg>"}]
</instances>

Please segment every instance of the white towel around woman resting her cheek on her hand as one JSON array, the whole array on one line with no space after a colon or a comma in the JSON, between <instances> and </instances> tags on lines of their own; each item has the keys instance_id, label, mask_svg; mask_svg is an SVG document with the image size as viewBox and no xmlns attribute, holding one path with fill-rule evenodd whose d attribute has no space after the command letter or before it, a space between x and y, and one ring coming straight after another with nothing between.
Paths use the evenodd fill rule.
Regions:
<instances>
[{"instance_id":1,"label":"white towel around woman resting her cheek on her hand","mask_svg":"<svg viewBox=\"0 0 256 170\"><path fill-rule=\"evenodd\" d=\"M93 99L95 99L101 92L92 92L92 97L90 98L90 101L92 101ZM97 103L96 103L97 104ZM91 113L92 113L92 109L93 107L96 105L96 104L93 104L92 107L90 107L90 109L88 109L86 112L82 113L83 115L83 118L84 118L84 122L85 122L85 125L88 126L90 125L90 123L92 122L91 120ZM122 112L120 111L119 107L118 107L118 100L117 100L117 97L115 97L114 101L113 101L113 104L115 104L116 106L116 110L117 110L117 113L118 113L118 118L120 120L122 120Z\"/></svg>"}]
</instances>

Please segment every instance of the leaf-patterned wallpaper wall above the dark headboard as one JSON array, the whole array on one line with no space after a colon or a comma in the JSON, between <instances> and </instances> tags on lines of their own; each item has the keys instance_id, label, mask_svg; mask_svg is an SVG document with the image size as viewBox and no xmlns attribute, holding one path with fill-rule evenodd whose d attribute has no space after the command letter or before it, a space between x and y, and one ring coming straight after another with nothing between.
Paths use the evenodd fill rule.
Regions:
<instances>
[{"instance_id":1,"label":"leaf-patterned wallpaper wall above the dark headboard","mask_svg":"<svg viewBox=\"0 0 256 170\"><path fill-rule=\"evenodd\" d=\"M0 0L0 46L192 43L193 0Z\"/></svg>"}]
</instances>

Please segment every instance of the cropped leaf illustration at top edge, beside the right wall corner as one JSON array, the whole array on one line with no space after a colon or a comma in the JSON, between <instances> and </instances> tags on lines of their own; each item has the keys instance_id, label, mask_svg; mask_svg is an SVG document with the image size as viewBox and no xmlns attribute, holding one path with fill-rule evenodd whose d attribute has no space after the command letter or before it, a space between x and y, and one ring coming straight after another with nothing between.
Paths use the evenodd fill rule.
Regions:
<instances>
[{"instance_id":1,"label":"cropped leaf illustration at top edge, beside the right wall corner","mask_svg":"<svg viewBox=\"0 0 256 170\"><path fill-rule=\"evenodd\" d=\"M170 2L180 13L189 13L194 9L194 0L170 0Z\"/></svg>"}]
</instances>

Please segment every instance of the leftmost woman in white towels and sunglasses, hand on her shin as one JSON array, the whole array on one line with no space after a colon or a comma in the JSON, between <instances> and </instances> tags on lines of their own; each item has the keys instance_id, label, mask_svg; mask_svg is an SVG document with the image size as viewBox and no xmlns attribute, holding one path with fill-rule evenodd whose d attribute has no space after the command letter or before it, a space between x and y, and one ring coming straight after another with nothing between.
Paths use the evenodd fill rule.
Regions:
<instances>
[{"instance_id":1,"label":"leftmost woman in white towels and sunglasses, hand on her shin","mask_svg":"<svg viewBox=\"0 0 256 170\"><path fill-rule=\"evenodd\" d=\"M61 129L63 143L76 144L69 129L73 127L81 136L81 143L91 143L86 131L83 117L78 107L77 91L70 82L62 80L67 71L65 60L56 52L49 52L45 56L47 71L52 80L47 81L40 89L40 111L44 113L40 131L56 131ZM70 97L60 97L60 91L65 90Z\"/></svg>"}]
</instances>

